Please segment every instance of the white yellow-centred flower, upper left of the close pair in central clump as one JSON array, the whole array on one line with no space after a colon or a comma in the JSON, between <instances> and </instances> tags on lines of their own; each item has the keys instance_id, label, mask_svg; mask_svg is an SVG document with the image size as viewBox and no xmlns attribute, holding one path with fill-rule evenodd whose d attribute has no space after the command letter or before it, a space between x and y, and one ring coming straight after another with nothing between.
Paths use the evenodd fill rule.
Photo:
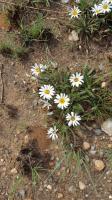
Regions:
<instances>
[{"instance_id":1,"label":"white yellow-centred flower, upper left of the close pair in central clump","mask_svg":"<svg viewBox=\"0 0 112 200\"><path fill-rule=\"evenodd\" d=\"M51 85L41 86L41 88L39 89L39 94L40 97L42 97L43 99L50 100L55 94L54 87Z\"/></svg>"}]
</instances>

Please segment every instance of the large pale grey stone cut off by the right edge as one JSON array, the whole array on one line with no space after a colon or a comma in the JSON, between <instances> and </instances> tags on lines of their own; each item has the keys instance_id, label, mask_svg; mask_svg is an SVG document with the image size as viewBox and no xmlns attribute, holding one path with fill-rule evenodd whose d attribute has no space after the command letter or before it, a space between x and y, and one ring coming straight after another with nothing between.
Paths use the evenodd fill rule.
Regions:
<instances>
[{"instance_id":1,"label":"large pale grey stone cut off by the right edge","mask_svg":"<svg viewBox=\"0 0 112 200\"><path fill-rule=\"evenodd\" d=\"M112 136L112 119L107 119L101 125L102 131L104 131L108 136Z\"/></svg>"}]
</instances>

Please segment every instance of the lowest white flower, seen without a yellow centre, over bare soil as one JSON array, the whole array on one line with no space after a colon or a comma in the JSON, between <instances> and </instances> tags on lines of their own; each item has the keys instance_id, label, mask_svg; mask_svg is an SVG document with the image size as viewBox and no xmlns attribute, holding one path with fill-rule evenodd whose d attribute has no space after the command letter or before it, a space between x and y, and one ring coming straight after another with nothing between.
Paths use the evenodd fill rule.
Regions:
<instances>
[{"instance_id":1,"label":"lowest white flower, seen without a yellow centre, over bare soil","mask_svg":"<svg viewBox=\"0 0 112 200\"><path fill-rule=\"evenodd\" d=\"M51 138L52 140L58 139L57 132L58 132L58 129L56 129L56 126L49 128L47 132L48 137Z\"/></svg>"}]
</instances>

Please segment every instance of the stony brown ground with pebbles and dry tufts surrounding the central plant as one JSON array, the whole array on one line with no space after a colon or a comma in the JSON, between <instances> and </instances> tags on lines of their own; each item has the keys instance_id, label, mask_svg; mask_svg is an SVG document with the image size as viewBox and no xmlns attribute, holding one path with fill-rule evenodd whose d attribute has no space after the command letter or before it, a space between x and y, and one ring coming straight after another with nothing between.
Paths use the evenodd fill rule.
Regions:
<instances>
[{"instance_id":1,"label":"stony brown ground with pebbles and dry tufts surrounding the central plant","mask_svg":"<svg viewBox=\"0 0 112 200\"><path fill-rule=\"evenodd\" d=\"M34 44L27 60L0 55L0 200L112 199L112 120L81 129L82 167L83 159L66 158L61 142L47 138L47 112L34 92L38 84L31 80L31 66L46 60L71 70L86 64L108 72L112 49L105 43L90 44L89 52L71 48L77 35L65 33L64 27L60 34L57 45Z\"/></svg>"}]
</instances>

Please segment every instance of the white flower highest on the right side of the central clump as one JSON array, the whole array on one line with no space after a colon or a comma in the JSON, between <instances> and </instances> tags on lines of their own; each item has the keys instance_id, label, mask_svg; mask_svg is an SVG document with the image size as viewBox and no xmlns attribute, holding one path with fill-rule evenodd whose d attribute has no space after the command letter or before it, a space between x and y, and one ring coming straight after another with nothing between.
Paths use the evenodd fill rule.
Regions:
<instances>
[{"instance_id":1,"label":"white flower highest on the right side of the central clump","mask_svg":"<svg viewBox=\"0 0 112 200\"><path fill-rule=\"evenodd\" d=\"M76 74L72 74L70 76L70 82L71 85L74 87L79 87L79 85L82 85L82 83L84 82L84 76L81 75L81 73L76 72Z\"/></svg>"}]
</instances>

